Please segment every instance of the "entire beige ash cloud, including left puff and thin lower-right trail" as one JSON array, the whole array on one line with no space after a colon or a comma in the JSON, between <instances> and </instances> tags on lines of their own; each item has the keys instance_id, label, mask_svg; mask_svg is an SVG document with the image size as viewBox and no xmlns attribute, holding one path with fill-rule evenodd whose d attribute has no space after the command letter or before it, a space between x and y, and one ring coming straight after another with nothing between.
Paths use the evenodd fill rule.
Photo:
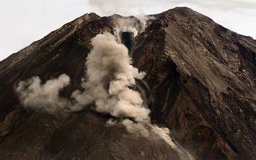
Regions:
<instances>
[{"instance_id":1,"label":"entire beige ash cloud, including left puff and thin lower-right trail","mask_svg":"<svg viewBox=\"0 0 256 160\"><path fill-rule=\"evenodd\" d=\"M39 77L21 81L16 91L22 104L49 112L61 108L79 111L88 104L95 104L97 112L115 117L108 120L107 126L123 124L128 132L150 139L162 138L182 159L193 159L188 152L173 143L168 128L151 124L150 109L143 104L140 93L132 89L135 79L143 79L146 73L132 66L132 58L125 45L118 43L115 36L105 33L92 38L92 46L85 63L84 92L76 90L72 93L71 98L75 102L59 96L60 90L70 82L69 77L62 74L45 84L41 84Z\"/></svg>"}]
</instances>

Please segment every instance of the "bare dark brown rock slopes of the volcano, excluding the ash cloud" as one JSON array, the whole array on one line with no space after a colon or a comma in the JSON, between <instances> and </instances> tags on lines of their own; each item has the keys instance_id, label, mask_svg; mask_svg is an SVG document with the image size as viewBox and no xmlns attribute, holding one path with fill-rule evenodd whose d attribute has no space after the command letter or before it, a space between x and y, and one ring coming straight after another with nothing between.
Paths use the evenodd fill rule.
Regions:
<instances>
[{"instance_id":1,"label":"bare dark brown rock slopes of the volcano, excluding the ash cloud","mask_svg":"<svg viewBox=\"0 0 256 160\"><path fill-rule=\"evenodd\" d=\"M128 20L138 36L119 35L133 65L147 72L136 88L152 122L169 127L196 159L256 159L256 41L186 7L153 15L143 30L135 17L85 14L0 62L0 159L180 159L164 140L148 140L109 115L85 109L46 113L20 104L13 86L62 73L80 88L91 38ZM122 19L122 20L118 20Z\"/></svg>"}]
</instances>

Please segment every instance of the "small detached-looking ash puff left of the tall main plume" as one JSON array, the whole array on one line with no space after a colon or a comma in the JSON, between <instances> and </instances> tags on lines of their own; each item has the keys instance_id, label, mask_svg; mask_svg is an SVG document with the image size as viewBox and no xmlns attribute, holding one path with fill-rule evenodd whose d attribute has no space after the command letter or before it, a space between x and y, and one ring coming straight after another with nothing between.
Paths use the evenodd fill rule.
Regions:
<instances>
[{"instance_id":1,"label":"small detached-looking ash puff left of the tall main plume","mask_svg":"<svg viewBox=\"0 0 256 160\"><path fill-rule=\"evenodd\" d=\"M59 94L60 90L68 86L69 83L70 78L66 74L62 74L56 79L48 80L45 84L42 84L41 79L36 76L27 81L20 81L16 92L24 107L54 112L66 107L68 101L65 98L61 98Z\"/></svg>"}]
</instances>

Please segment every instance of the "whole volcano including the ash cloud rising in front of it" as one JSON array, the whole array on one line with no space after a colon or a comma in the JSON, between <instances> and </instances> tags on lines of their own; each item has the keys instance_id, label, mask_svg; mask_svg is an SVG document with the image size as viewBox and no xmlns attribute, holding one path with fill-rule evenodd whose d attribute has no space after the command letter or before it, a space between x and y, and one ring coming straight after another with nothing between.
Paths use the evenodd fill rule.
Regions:
<instances>
[{"instance_id":1,"label":"whole volcano including the ash cloud rising in front of it","mask_svg":"<svg viewBox=\"0 0 256 160\"><path fill-rule=\"evenodd\" d=\"M86 13L0 61L0 159L256 159L255 53L187 7Z\"/></svg>"}]
</instances>

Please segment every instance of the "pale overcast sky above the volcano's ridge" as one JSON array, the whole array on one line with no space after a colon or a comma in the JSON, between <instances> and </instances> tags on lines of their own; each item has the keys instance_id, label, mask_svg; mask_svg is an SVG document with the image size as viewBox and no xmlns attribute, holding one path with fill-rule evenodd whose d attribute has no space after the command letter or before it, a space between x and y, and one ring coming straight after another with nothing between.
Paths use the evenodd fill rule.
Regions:
<instances>
[{"instance_id":1,"label":"pale overcast sky above the volcano's ridge","mask_svg":"<svg viewBox=\"0 0 256 160\"><path fill-rule=\"evenodd\" d=\"M85 13L156 14L176 6L256 39L256 0L0 0L0 60Z\"/></svg>"}]
</instances>

